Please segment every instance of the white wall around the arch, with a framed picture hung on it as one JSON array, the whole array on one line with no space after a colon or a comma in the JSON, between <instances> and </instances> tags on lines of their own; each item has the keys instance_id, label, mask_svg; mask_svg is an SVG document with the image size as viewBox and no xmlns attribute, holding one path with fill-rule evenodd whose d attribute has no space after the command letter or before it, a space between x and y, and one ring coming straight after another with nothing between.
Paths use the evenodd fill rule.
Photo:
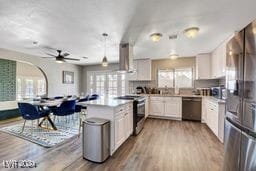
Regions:
<instances>
[{"instance_id":1,"label":"white wall around the arch, with a framed picture hung on it","mask_svg":"<svg viewBox=\"0 0 256 171\"><path fill-rule=\"evenodd\" d=\"M48 79L48 95L57 96L63 94L81 93L81 71L82 67L73 64L57 64L54 60L43 59L38 56L28 55L16 51L0 48L0 58L14 61L30 62L40 67ZM72 71L75 73L74 84L62 84L62 71Z\"/></svg>"}]
</instances>

